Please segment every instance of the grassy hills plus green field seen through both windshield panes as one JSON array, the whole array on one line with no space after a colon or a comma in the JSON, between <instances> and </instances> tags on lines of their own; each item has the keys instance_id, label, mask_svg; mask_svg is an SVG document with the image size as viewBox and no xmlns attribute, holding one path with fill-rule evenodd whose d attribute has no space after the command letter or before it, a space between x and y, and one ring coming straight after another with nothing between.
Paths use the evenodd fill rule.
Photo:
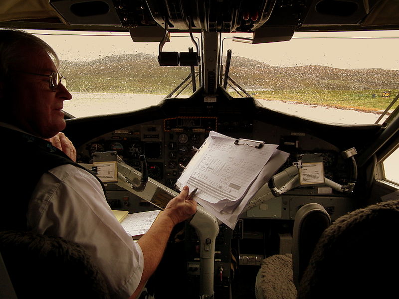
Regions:
<instances>
[{"instance_id":1,"label":"grassy hills plus green field seen through both windshield panes","mask_svg":"<svg viewBox=\"0 0 399 299\"><path fill-rule=\"evenodd\" d=\"M189 67L159 66L157 56L144 53L61 61L59 69L70 91L101 93L168 94L190 73ZM398 70L279 67L232 56L229 74L260 99L382 110L392 100L382 92L399 92Z\"/></svg>"}]
</instances>

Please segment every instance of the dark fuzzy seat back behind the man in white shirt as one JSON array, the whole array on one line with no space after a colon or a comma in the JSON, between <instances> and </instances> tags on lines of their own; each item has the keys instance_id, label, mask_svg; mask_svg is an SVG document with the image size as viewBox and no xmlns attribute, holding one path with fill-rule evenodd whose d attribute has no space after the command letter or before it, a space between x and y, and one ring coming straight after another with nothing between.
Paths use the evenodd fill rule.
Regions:
<instances>
[{"instance_id":1,"label":"dark fuzzy seat back behind the man in white shirt","mask_svg":"<svg viewBox=\"0 0 399 299\"><path fill-rule=\"evenodd\" d=\"M2 231L0 252L18 299L109 298L102 274L76 243L31 232Z\"/></svg>"}]
</instances>

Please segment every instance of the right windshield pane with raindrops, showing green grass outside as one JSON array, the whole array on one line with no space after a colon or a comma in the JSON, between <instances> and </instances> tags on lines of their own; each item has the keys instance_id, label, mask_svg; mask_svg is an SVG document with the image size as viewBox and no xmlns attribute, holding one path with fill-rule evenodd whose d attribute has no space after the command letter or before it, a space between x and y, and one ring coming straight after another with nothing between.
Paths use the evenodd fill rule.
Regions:
<instances>
[{"instance_id":1,"label":"right windshield pane with raindrops, showing green grass outside","mask_svg":"<svg viewBox=\"0 0 399 299\"><path fill-rule=\"evenodd\" d=\"M232 79L265 107L323 122L374 124L399 92L398 37L399 31L299 32L267 44L226 38L223 49L232 50Z\"/></svg>"}]
</instances>

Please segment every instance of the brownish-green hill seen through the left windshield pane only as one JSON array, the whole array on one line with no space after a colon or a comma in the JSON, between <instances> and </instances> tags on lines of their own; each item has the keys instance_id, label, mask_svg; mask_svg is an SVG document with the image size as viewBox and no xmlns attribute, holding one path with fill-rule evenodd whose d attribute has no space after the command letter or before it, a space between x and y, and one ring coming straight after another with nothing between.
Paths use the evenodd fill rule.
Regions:
<instances>
[{"instance_id":1,"label":"brownish-green hill seen through the left windshield pane only","mask_svg":"<svg viewBox=\"0 0 399 299\"><path fill-rule=\"evenodd\" d=\"M68 89L80 92L169 93L189 68L161 67L157 57L143 53L108 56L89 62L60 62Z\"/></svg>"}]
</instances>

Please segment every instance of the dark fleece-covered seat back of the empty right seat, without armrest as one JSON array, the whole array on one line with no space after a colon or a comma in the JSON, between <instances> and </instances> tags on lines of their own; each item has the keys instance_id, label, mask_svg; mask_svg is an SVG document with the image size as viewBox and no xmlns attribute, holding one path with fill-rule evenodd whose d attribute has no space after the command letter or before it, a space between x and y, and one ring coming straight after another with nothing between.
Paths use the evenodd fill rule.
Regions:
<instances>
[{"instance_id":1,"label":"dark fleece-covered seat back of the empty right seat, without armrest","mask_svg":"<svg viewBox=\"0 0 399 299\"><path fill-rule=\"evenodd\" d=\"M321 236L299 299L392 298L398 293L399 201L359 209Z\"/></svg>"}]
</instances>

